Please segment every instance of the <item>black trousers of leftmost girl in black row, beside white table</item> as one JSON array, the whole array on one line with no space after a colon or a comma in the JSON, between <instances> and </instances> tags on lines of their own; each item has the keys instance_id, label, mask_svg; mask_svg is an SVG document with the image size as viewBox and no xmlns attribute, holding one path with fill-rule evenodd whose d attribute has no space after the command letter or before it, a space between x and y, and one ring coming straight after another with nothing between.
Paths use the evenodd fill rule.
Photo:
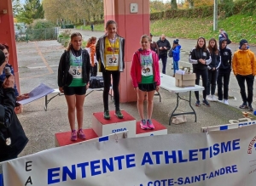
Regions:
<instances>
[{"instance_id":1,"label":"black trousers of leftmost girl in black row, beside white table","mask_svg":"<svg viewBox=\"0 0 256 186\"><path fill-rule=\"evenodd\" d=\"M201 70L201 69L193 69L195 73L195 85L199 85L200 76L202 80L202 86L205 87L203 90L203 99L207 98L207 82L208 82L208 70ZM199 92L195 91L195 98L199 101Z\"/></svg>"}]
</instances>

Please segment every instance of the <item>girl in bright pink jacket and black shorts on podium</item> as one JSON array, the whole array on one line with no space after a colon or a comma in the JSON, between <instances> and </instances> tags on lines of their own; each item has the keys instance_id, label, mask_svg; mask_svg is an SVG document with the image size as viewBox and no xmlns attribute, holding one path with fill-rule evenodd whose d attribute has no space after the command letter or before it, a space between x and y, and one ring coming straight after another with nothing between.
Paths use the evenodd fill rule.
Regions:
<instances>
[{"instance_id":1,"label":"girl in bright pink jacket and black shorts on podium","mask_svg":"<svg viewBox=\"0 0 256 186\"><path fill-rule=\"evenodd\" d=\"M143 35L141 38L142 48L133 54L131 64L131 79L134 89L137 92L137 110L141 116L142 129L154 129L151 121L153 112L154 91L159 91L160 70L157 54L150 50L150 38ZM147 95L148 120L143 114L144 97Z\"/></svg>"}]
</instances>

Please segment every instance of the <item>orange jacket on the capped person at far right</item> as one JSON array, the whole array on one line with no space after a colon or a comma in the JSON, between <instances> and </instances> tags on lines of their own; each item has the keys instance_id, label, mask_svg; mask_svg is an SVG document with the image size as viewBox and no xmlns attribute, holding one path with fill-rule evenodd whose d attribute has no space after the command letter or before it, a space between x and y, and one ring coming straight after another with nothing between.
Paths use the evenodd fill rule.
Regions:
<instances>
[{"instance_id":1,"label":"orange jacket on the capped person at far right","mask_svg":"<svg viewBox=\"0 0 256 186\"><path fill-rule=\"evenodd\" d=\"M234 53L232 59L232 68L234 75L237 74L247 76L253 74L256 75L256 58L250 49L241 50L238 49Z\"/></svg>"}]
</instances>

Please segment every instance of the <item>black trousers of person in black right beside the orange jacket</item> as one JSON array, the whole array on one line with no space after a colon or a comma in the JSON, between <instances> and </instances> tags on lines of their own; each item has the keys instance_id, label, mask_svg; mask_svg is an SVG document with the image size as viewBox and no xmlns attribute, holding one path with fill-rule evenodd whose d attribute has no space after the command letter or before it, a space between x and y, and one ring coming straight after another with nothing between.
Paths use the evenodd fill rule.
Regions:
<instances>
[{"instance_id":1,"label":"black trousers of person in black right beside the orange jacket","mask_svg":"<svg viewBox=\"0 0 256 186\"><path fill-rule=\"evenodd\" d=\"M229 99L229 84L231 70L218 70L218 100ZM223 80L223 81L222 81ZM223 91L222 91L223 87Z\"/></svg>"}]
</instances>

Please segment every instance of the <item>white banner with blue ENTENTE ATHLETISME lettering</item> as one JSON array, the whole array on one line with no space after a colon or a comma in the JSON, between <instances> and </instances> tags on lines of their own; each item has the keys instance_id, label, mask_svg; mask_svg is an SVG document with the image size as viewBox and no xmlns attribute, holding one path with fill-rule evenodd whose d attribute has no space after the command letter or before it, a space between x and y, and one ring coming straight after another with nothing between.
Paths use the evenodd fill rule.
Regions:
<instances>
[{"instance_id":1,"label":"white banner with blue ENTENTE ATHLETISME lettering","mask_svg":"<svg viewBox=\"0 0 256 186\"><path fill-rule=\"evenodd\" d=\"M255 186L256 125L85 142L3 163L5 186Z\"/></svg>"}]
</instances>

